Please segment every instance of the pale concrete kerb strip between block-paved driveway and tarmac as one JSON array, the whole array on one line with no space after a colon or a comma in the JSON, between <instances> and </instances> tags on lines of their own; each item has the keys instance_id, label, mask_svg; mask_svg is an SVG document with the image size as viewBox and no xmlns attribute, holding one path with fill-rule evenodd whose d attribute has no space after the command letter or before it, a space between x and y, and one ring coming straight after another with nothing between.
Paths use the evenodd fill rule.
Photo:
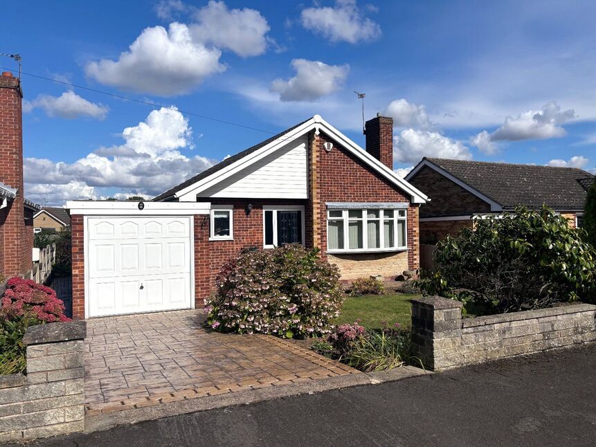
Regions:
<instances>
[{"instance_id":1,"label":"pale concrete kerb strip between block-paved driveway and tarmac","mask_svg":"<svg viewBox=\"0 0 596 447\"><path fill-rule=\"evenodd\" d=\"M281 385L260 388L258 390L206 396L199 399L162 403L160 405L146 408L135 408L133 410L122 410L107 414L87 416L85 418L84 431L95 432L99 430L108 430L115 426L130 425L142 421L152 421L154 419L176 416L178 414L214 410L215 408L224 408L235 405L248 405L250 403L298 396L299 394L314 394L359 385L377 385L379 383L398 381L404 378L426 374L434 373L413 366L403 366L389 371L350 374L347 376L331 377L306 383L293 383L291 385Z\"/></svg>"}]
</instances>

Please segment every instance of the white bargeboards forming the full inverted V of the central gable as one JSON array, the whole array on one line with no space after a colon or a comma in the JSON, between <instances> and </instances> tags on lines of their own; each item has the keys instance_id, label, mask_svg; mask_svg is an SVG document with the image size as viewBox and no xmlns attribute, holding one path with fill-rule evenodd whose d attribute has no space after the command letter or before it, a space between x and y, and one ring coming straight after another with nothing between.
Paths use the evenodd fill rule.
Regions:
<instances>
[{"instance_id":1,"label":"white bargeboards forming the full inverted V of the central gable","mask_svg":"<svg viewBox=\"0 0 596 447\"><path fill-rule=\"evenodd\" d=\"M305 134L305 132L310 131L311 129L315 129L317 135L319 134L320 130L323 130L326 134L334 138L334 140L337 140L338 143L342 143L345 149L350 151L356 157L360 158L361 161L364 161L366 164L370 165L370 167L373 167L374 170L385 176L386 179L397 185L401 190L408 192L408 194L410 194L410 201L412 203L426 203L426 201L428 201L428 197L426 197L426 195L423 192L419 191L413 185L410 185L410 183L408 183L404 179L401 179L400 176L395 174L395 172L390 170L386 165L383 165L383 163L378 161L377 158L374 158L372 155L368 154L368 152L359 147L359 145L356 145L354 141L350 140L350 138L347 138L347 136L342 134L341 131L338 131L338 129L330 125L327 121L323 120L323 118L321 118L318 115L315 115L313 118L311 118L304 124L300 125L299 127L296 127L296 129L289 131L287 134L284 134L283 136L280 136L280 138L278 138L277 140L272 141L268 145L265 145L264 147L253 152L252 154L249 154L241 158L237 162L224 167L224 169L222 170L214 172L212 175L206 177L205 179L202 179L201 181L198 181L194 185L190 185L187 188L180 190L174 195L178 197L180 201L196 201L196 196L199 192L206 190L207 188L210 188L216 183L219 183L219 181L227 179L229 176L235 174L235 172L244 169L244 167L247 167L252 163L255 163L264 156L267 156L271 152L274 152L282 145L285 145L288 140L291 140L292 138L298 138L302 134Z\"/></svg>"}]
</instances>

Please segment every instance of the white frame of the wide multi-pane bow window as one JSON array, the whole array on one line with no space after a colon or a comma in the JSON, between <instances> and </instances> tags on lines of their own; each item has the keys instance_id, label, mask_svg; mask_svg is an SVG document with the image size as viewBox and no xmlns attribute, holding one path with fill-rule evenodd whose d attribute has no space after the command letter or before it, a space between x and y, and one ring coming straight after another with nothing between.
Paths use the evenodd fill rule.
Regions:
<instances>
[{"instance_id":1,"label":"white frame of the wide multi-pane bow window","mask_svg":"<svg viewBox=\"0 0 596 447\"><path fill-rule=\"evenodd\" d=\"M368 248L368 211L375 210L379 211L379 219L371 219L374 221L380 221L379 225L379 248ZM341 211L342 217L330 217L330 213L332 211ZM404 251L408 250L408 210L404 209L388 209L388 208L358 208L357 211L362 213L362 217L359 217L358 220L362 221L363 225L363 235L362 235L362 246L363 248L350 248L350 235L349 235L349 226L348 222L350 218L348 217L349 212L354 211L354 209L328 209L327 210L327 253L379 253L379 252L388 252L388 251ZM393 240L395 241L395 247L385 247L385 230L383 228L383 224L385 222L385 212L389 211L393 213L393 216L390 219L393 220ZM399 212L404 212L404 216L400 216ZM329 221L330 220L343 220L343 248L329 248ZM355 220L352 218L352 220ZM398 228L399 222L404 221L405 226L405 237L404 237L404 246L398 246L397 243L399 241L398 237Z\"/></svg>"}]
</instances>

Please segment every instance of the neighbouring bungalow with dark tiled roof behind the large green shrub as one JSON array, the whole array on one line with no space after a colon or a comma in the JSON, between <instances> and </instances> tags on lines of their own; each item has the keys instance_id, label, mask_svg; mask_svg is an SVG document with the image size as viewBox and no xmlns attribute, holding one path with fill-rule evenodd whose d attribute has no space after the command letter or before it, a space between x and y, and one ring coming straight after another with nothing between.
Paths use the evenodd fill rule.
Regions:
<instances>
[{"instance_id":1,"label":"neighbouring bungalow with dark tiled roof behind the large green shrub","mask_svg":"<svg viewBox=\"0 0 596 447\"><path fill-rule=\"evenodd\" d=\"M581 226L587 190L594 176L574 167L515 165L422 158L406 180L431 199L420 208L420 243L435 244L475 215L546 204Z\"/></svg>"}]
</instances>

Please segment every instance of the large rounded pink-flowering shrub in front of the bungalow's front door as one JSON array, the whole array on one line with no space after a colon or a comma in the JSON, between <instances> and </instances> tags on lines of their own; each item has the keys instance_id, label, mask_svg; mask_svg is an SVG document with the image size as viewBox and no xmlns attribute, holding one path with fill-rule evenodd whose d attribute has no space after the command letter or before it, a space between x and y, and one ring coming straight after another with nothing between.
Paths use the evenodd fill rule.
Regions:
<instances>
[{"instance_id":1,"label":"large rounded pink-flowering shrub in front of the bungalow's front door","mask_svg":"<svg viewBox=\"0 0 596 447\"><path fill-rule=\"evenodd\" d=\"M226 262L205 300L217 331L305 338L329 334L343 291L338 268L298 244L241 253Z\"/></svg>"}]
</instances>

